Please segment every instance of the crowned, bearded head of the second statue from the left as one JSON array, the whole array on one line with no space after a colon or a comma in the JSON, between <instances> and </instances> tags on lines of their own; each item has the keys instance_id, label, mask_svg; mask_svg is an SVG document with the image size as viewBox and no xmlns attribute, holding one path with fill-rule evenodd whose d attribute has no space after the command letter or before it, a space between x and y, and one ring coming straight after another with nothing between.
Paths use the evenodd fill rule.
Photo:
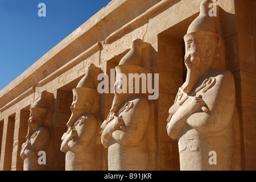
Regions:
<instances>
[{"instance_id":1,"label":"crowned, bearded head of the second statue from the left","mask_svg":"<svg viewBox=\"0 0 256 182\"><path fill-rule=\"evenodd\" d=\"M97 103L100 96L97 89L95 89L96 69L94 64L89 64L85 70L85 76L82 77L77 87L72 89L73 102L70 107L72 114L67 123L68 127L71 127L81 114L95 113L98 109Z\"/></svg>"}]
</instances>

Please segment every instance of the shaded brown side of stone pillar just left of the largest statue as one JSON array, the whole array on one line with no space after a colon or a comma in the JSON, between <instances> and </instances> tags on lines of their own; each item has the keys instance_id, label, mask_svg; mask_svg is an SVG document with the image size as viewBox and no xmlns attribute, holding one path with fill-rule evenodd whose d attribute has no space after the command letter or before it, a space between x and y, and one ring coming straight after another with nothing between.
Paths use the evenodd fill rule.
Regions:
<instances>
[{"instance_id":1,"label":"shaded brown side of stone pillar just left of the largest statue","mask_svg":"<svg viewBox=\"0 0 256 182\"><path fill-rule=\"evenodd\" d=\"M158 36L158 147L159 170L179 170L177 140L166 133L168 105L174 104L177 89L183 82L182 42Z\"/></svg>"}]
</instances>

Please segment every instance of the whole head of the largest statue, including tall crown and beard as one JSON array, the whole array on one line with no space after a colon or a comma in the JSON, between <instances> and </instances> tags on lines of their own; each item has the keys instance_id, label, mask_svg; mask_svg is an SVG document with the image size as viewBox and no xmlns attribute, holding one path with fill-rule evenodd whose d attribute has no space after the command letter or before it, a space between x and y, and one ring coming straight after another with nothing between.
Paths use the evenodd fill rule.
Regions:
<instances>
[{"instance_id":1,"label":"whole head of the largest statue, including tall crown and beard","mask_svg":"<svg viewBox=\"0 0 256 182\"><path fill-rule=\"evenodd\" d=\"M190 92L200 74L212 70L216 56L216 49L220 39L217 34L216 20L214 16L209 16L209 4L211 0L204 0L200 6L200 14L190 24L187 34L184 36L185 42L185 66L188 69L188 88L184 92ZM192 79L192 80L191 80ZM189 86L190 85L190 86Z\"/></svg>"}]
</instances>

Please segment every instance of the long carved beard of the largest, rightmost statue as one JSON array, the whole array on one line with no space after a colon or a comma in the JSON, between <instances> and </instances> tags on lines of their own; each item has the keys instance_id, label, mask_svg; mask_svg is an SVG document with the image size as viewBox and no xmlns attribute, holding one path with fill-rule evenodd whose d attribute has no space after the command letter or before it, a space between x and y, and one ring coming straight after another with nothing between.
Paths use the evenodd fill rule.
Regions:
<instances>
[{"instance_id":1,"label":"long carved beard of the largest, rightmost statue","mask_svg":"<svg viewBox=\"0 0 256 182\"><path fill-rule=\"evenodd\" d=\"M183 92L185 93L191 92L191 90L195 87L199 77L200 77L199 69L188 68L186 81L182 86Z\"/></svg>"}]
</instances>

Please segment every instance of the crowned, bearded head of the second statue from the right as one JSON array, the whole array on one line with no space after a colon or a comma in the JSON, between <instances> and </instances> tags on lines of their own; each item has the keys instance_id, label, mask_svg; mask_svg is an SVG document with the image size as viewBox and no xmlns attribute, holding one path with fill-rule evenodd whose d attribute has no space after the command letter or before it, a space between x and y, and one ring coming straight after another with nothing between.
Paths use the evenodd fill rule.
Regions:
<instances>
[{"instance_id":1,"label":"crowned, bearded head of the second statue from the right","mask_svg":"<svg viewBox=\"0 0 256 182\"><path fill-rule=\"evenodd\" d=\"M144 43L141 39L134 39L131 43L131 49L143 49L147 43ZM127 98L134 95L142 94L135 92L135 80L129 79L129 74L133 76L139 76L142 73L147 73L147 68L142 63L141 55L137 52L128 52L115 67L117 76L114 84L114 100L110 111L115 113L121 106L122 102ZM136 75L137 74L137 75ZM142 82L139 83L139 88L142 88Z\"/></svg>"}]
</instances>

